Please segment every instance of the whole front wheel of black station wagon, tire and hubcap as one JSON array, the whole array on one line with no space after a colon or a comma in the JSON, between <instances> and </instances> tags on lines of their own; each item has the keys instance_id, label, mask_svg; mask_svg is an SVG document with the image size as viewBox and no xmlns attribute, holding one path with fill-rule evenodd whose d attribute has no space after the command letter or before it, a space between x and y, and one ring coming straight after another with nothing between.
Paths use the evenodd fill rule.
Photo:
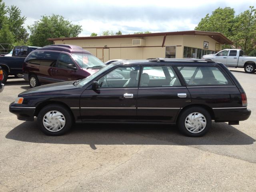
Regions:
<instances>
[{"instance_id":1,"label":"whole front wheel of black station wagon, tire and hubcap","mask_svg":"<svg viewBox=\"0 0 256 192\"><path fill-rule=\"evenodd\" d=\"M47 105L40 110L37 123L44 134L60 136L71 128L72 114L70 110L60 104Z\"/></svg>"}]
</instances>

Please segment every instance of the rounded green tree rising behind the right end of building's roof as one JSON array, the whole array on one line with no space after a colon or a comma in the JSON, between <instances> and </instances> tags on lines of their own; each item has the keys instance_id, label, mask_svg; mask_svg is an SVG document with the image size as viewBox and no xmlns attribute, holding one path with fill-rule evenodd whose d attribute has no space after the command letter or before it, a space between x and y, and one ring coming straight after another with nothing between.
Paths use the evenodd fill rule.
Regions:
<instances>
[{"instance_id":1,"label":"rounded green tree rising behind the right end of building's roof","mask_svg":"<svg viewBox=\"0 0 256 192\"><path fill-rule=\"evenodd\" d=\"M234 25L235 11L230 7L217 8L212 12L212 15L206 15L196 26L195 30L208 31L208 32L220 32L227 37L231 36L232 28Z\"/></svg>"}]
</instances>

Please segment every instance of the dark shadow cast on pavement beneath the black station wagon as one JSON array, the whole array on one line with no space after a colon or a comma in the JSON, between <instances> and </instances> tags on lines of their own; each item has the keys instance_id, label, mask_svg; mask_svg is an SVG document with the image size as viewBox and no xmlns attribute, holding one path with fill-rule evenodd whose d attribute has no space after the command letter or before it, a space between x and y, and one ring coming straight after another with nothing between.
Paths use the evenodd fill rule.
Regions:
<instances>
[{"instance_id":1,"label":"dark shadow cast on pavement beneath the black station wagon","mask_svg":"<svg viewBox=\"0 0 256 192\"><path fill-rule=\"evenodd\" d=\"M242 125L240 125L242 126ZM176 126L159 124L74 124L63 136L46 136L34 122L23 122L7 139L34 143L95 145L250 145L256 140L227 123L214 123L200 138L183 136ZM165 141L165 142L163 142Z\"/></svg>"}]
</instances>

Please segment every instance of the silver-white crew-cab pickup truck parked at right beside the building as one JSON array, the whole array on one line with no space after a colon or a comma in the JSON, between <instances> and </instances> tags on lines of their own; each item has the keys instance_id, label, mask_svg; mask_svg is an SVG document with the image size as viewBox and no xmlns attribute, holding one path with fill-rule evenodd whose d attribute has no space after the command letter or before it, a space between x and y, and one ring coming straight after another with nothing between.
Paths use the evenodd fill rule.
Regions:
<instances>
[{"instance_id":1,"label":"silver-white crew-cab pickup truck parked at right beside the building","mask_svg":"<svg viewBox=\"0 0 256 192\"><path fill-rule=\"evenodd\" d=\"M240 49L224 49L216 54L204 55L202 59L221 62L227 67L244 68L247 73L254 73L256 68L256 57L246 56Z\"/></svg>"}]
</instances>

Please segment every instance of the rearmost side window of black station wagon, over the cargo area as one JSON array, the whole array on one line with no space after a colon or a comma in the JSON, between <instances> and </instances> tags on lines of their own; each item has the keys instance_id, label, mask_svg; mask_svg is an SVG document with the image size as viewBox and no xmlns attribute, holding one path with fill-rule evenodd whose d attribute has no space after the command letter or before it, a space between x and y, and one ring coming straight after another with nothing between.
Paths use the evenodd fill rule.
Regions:
<instances>
[{"instance_id":1,"label":"rearmost side window of black station wagon, over the cargo area","mask_svg":"<svg viewBox=\"0 0 256 192\"><path fill-rule=\"evenodd\" d=\"M188 86L233 85L217 66L179 66L178 70Z\"/></svg>"}]
</instances>

